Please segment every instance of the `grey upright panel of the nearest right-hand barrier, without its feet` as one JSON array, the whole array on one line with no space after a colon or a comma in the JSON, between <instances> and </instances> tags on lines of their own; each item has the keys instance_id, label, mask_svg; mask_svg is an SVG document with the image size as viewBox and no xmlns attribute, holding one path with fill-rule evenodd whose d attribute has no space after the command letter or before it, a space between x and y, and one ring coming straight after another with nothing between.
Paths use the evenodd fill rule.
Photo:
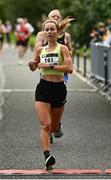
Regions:
<instances>
[{"instance_id":1,"label":"grey upright panel of the nearest right-hand barrier, without its feet","mask_svg":"<svg viewBox=\"0 0 111 180\"><path fill-rule=\"evenodd\" d=\"M111 47L91 44L91 73L105 85L111 83Z\"/></svg>"}]
</instances>

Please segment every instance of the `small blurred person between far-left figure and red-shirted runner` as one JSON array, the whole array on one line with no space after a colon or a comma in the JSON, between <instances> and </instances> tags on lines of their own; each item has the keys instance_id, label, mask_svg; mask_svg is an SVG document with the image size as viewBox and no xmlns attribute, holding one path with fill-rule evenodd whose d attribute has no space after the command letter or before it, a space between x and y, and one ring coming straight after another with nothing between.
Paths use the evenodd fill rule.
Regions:
<instances>
[{"instance_id":1,"label":"small blurred person between far-left figure and red-shirted runner","mask_svg":"<svg viewBox=\"0 0 111 180\"><path fill-rule=\"evenodd\" d=\"M11 43L10 33L12 31L12 25L11 25L10 21L8 21L8 20L6 21L5 28L6 28L6 41L8 44L10 44Z\"/></svg>"}]
</instances>

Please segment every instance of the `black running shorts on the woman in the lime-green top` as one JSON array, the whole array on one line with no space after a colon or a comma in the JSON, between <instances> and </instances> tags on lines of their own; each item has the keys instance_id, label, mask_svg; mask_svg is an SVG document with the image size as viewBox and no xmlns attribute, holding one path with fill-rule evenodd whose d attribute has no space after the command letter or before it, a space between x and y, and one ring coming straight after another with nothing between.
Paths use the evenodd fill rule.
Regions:
<instances>
[{"instance_id":1,"label":"black running shorts on the woman in the lime-green top","mask_svg":"<svg viewBox=\"0 0 111 180\"><path fill-rule=\"evenodd\" d=\"M66 85L64 82L50 82L41 79L35 90L35 101L50 103L58 108L66 103Z\"/></svg>"}]
</instances>

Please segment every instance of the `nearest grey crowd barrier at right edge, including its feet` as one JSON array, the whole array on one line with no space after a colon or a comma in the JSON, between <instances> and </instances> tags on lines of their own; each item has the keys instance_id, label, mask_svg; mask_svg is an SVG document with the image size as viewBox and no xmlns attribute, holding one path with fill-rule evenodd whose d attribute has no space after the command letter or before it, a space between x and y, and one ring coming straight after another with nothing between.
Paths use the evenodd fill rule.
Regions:
<instances>
[{"instance_id":1,"label":"nearest grey crowd barrier at right edge, including its feet","mask_svg":"<svg viewBox=\"0 0 111 180\"><path fill-rule=\"evenodd\" d=\"M92 84L111 101L111 46L91 44Z\"/></svg>"}]
</instances>

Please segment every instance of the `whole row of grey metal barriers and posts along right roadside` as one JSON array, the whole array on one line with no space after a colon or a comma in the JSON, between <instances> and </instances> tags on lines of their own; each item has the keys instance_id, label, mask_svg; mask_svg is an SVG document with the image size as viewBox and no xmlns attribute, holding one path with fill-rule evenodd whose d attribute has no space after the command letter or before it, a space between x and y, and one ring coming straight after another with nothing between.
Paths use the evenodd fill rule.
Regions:
<instances>
[{"instance_id":1,"label":"whole row of grey metal barriers and posts along right roadside","mask_svg":"<svg viewBox=\"0 0 111 180\"><path fill-rule=\"evenodd\" d=\"M90 55L86 48L74 57L75 70L85 77L86 82L95 87L111 102L111 46L91 43Z\"/></svg>"}]
</instances>

